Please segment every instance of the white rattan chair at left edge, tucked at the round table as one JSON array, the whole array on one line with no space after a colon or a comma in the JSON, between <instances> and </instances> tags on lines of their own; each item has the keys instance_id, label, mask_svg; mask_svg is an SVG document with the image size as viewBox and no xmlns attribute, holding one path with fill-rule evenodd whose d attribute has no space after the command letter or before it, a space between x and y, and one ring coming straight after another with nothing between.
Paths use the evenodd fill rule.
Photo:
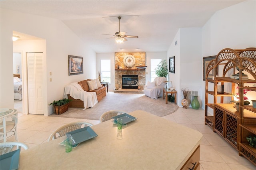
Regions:
<instances>
[{"instance_id":1,"label":"white rattan chair at left edge, tucked at the round table","mask_svg":"<svg viewBox=\"0 0 256 170\"><path fill-rule=\"evenodd\" d=\"M15 136L15 140L18 142L17 135L17 125L18 125L18 112L15 111L13 114L7 117L1 117L0 120L0 136L3 137L1 140L7 142L7 138Z\"/></svg>"}]
</instances>

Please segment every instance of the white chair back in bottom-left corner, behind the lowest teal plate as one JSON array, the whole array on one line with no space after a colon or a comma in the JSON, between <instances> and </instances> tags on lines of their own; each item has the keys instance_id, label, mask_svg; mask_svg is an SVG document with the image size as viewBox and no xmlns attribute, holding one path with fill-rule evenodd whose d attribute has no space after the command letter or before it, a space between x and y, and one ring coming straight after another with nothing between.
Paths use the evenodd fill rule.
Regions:
<instances>
[{"instance_id":1,"label":"white chair back in bottom-left corner, behind the lowest teal plate","mask_svg":"<svg viewBox=\"0 0 256 170\"><path fill-rule=\"evenodd\" d=\"M0 155L16 150L14 149L15 146L17 146L16 149L20 149L20 147L24 148L25 150L28 149L28 145L22 142L2 142L0 143Z\"/></svg>"}]
</instances>

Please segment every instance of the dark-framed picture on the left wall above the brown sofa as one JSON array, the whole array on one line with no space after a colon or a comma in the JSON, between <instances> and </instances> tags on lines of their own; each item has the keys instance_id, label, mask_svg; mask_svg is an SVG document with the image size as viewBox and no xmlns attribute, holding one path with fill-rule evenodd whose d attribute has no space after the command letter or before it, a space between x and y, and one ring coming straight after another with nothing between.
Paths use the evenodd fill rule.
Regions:
<instances>
[{"instance_id":1,"label":"dark-framed picture on the left wall above the brown sofa","mask_svg":"<svg viewBox=\"0 0 256 170\"><path fill-rule=\"evenodd\" d=\"M68 55L68 75L77 75L84 73L83 59L83 57Z\"/></svg>"}]
</instances>

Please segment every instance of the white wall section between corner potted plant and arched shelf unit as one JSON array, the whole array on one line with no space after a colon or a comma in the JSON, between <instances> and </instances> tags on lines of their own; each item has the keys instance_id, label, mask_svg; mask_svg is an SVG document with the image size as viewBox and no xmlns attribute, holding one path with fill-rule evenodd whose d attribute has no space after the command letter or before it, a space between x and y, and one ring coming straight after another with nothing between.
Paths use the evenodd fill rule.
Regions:
<instances>
[{"instance_id":1,"label":"white wall section between corner potted plant and arched shelf unit","mask_svg":"<svg viewBox=\"0 0 256 170\"><path fill-rule=\"evenodd\" d=\"M168 57L175 56L175 73L169 73L169 78L178 93L179 106L182 106L182 88L199 91L198 99L201 100L201 36L201 28L180 28L168 49Z\"/></svg>"}]
</instances>

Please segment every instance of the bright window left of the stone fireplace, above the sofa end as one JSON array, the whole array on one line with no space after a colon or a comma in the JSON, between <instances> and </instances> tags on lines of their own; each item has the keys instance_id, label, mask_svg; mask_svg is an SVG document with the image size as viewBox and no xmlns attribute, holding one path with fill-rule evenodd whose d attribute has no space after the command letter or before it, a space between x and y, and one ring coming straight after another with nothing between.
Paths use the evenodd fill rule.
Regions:
<instances>
[{"instance_id":1,"label":"bright window left of the stone fireplace, above the sofa end","mask_svg":"<svg viewBox=\"0 0 256 170\"><path fill-rule=\"evenodd\" d=\"M100 60L101 82L111 82L110 59Z\"/></svg>"}]
</instances>

